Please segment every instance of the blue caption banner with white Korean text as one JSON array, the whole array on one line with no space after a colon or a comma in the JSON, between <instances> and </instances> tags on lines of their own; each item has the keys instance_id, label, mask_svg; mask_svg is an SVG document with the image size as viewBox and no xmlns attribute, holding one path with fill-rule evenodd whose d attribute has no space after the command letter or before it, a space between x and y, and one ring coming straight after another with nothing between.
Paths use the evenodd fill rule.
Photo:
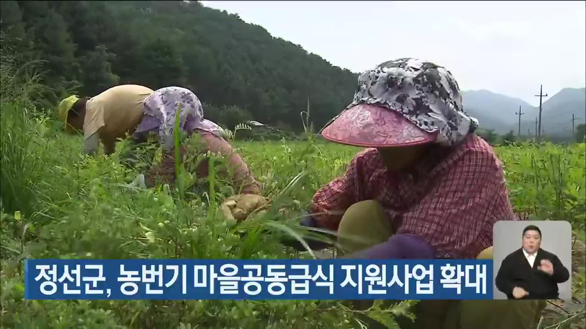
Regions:
<instances>
[{"instance_id":1,"label":"blue caption banner with white Korean text","mask_svg":"<svg viewBox=\"0 0 586 329\"><path fill-rule=\"evenodd\" d=\"M492 299L492 260L26 259L30 300Z\"/></svg>"}]
</instances>

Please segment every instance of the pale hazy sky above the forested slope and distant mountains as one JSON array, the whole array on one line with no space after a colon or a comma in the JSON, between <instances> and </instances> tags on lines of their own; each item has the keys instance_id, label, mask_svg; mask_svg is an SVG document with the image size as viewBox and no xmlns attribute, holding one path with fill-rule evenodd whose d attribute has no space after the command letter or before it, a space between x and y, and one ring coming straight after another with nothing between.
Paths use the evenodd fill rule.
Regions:
<instances>
[{"instance_id":1,"label":"pale hazy sky above the forested slope and distant mountains","mask_svg":"<svg viewBox=\"0 0 586 329\"><path fill-rule=\"evenodd\" d=\"M360 72L398 57L435 61L462 90L539 105L586 85L584 1L201 1ZM547 98L546 98L547 99Z\"/></svg>"}]
</instances>

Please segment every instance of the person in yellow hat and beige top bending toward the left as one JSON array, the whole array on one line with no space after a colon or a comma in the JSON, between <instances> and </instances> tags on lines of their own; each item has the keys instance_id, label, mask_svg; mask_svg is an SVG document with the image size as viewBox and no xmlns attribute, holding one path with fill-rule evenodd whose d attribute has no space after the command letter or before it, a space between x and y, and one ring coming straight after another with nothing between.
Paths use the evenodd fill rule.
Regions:
<instances>
[{"instance_id":1,"label":"person in yellow hat and beige top bending toward the left","mask_svg":"<svg viewBox=\"0 0 586 329\"><path fill-rule=\"evenodd\" d=\"M125 84L112 87L88 98L76 95L59 104L59 116L65 131L83 131L83 152L93 155L100 140L104 154L114 153L117 138L132 133L142 120L142 102L154 91L142 85Z\"/></svg>"}]
</instances>

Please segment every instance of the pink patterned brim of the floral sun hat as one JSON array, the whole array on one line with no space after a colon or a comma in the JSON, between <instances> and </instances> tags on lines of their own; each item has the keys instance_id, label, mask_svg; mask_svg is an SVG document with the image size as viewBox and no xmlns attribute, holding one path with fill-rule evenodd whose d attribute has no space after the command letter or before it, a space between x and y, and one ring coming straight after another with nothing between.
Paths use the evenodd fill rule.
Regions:
<instances>
[{"instance_id":1,"label":"pink patterned brim of the floral sun hat","mask_svg":"<svg viewBox=\"0 0 586 329\"><path fill-rule=\"evenodd\" d=\"M322 131L332 142L386 148L413 146L434 142L437 132L426 132L403 115L371 104L358 104L346 109Z\"/></svg>"}]
</instances>

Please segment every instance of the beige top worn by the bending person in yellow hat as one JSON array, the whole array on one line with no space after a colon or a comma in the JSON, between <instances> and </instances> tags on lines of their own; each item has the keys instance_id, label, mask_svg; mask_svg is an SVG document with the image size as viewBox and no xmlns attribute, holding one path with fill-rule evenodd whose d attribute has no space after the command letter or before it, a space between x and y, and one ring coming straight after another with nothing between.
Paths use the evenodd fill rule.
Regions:
<instances>
[{"instance_id":1,"label":"beige top worn by the bending person in yellow hat","mask_svg":"<svg viewBox=\"0 0 586 329\"><path fill-rule=\"evenodd\" d=\"M83 123L84 152L96 152L99 140L104 153L114 152L116 138L124 138L142 120L142 101L154 90L135 84L117 85L90 98Z\"/></svg>"}]
</instances>

